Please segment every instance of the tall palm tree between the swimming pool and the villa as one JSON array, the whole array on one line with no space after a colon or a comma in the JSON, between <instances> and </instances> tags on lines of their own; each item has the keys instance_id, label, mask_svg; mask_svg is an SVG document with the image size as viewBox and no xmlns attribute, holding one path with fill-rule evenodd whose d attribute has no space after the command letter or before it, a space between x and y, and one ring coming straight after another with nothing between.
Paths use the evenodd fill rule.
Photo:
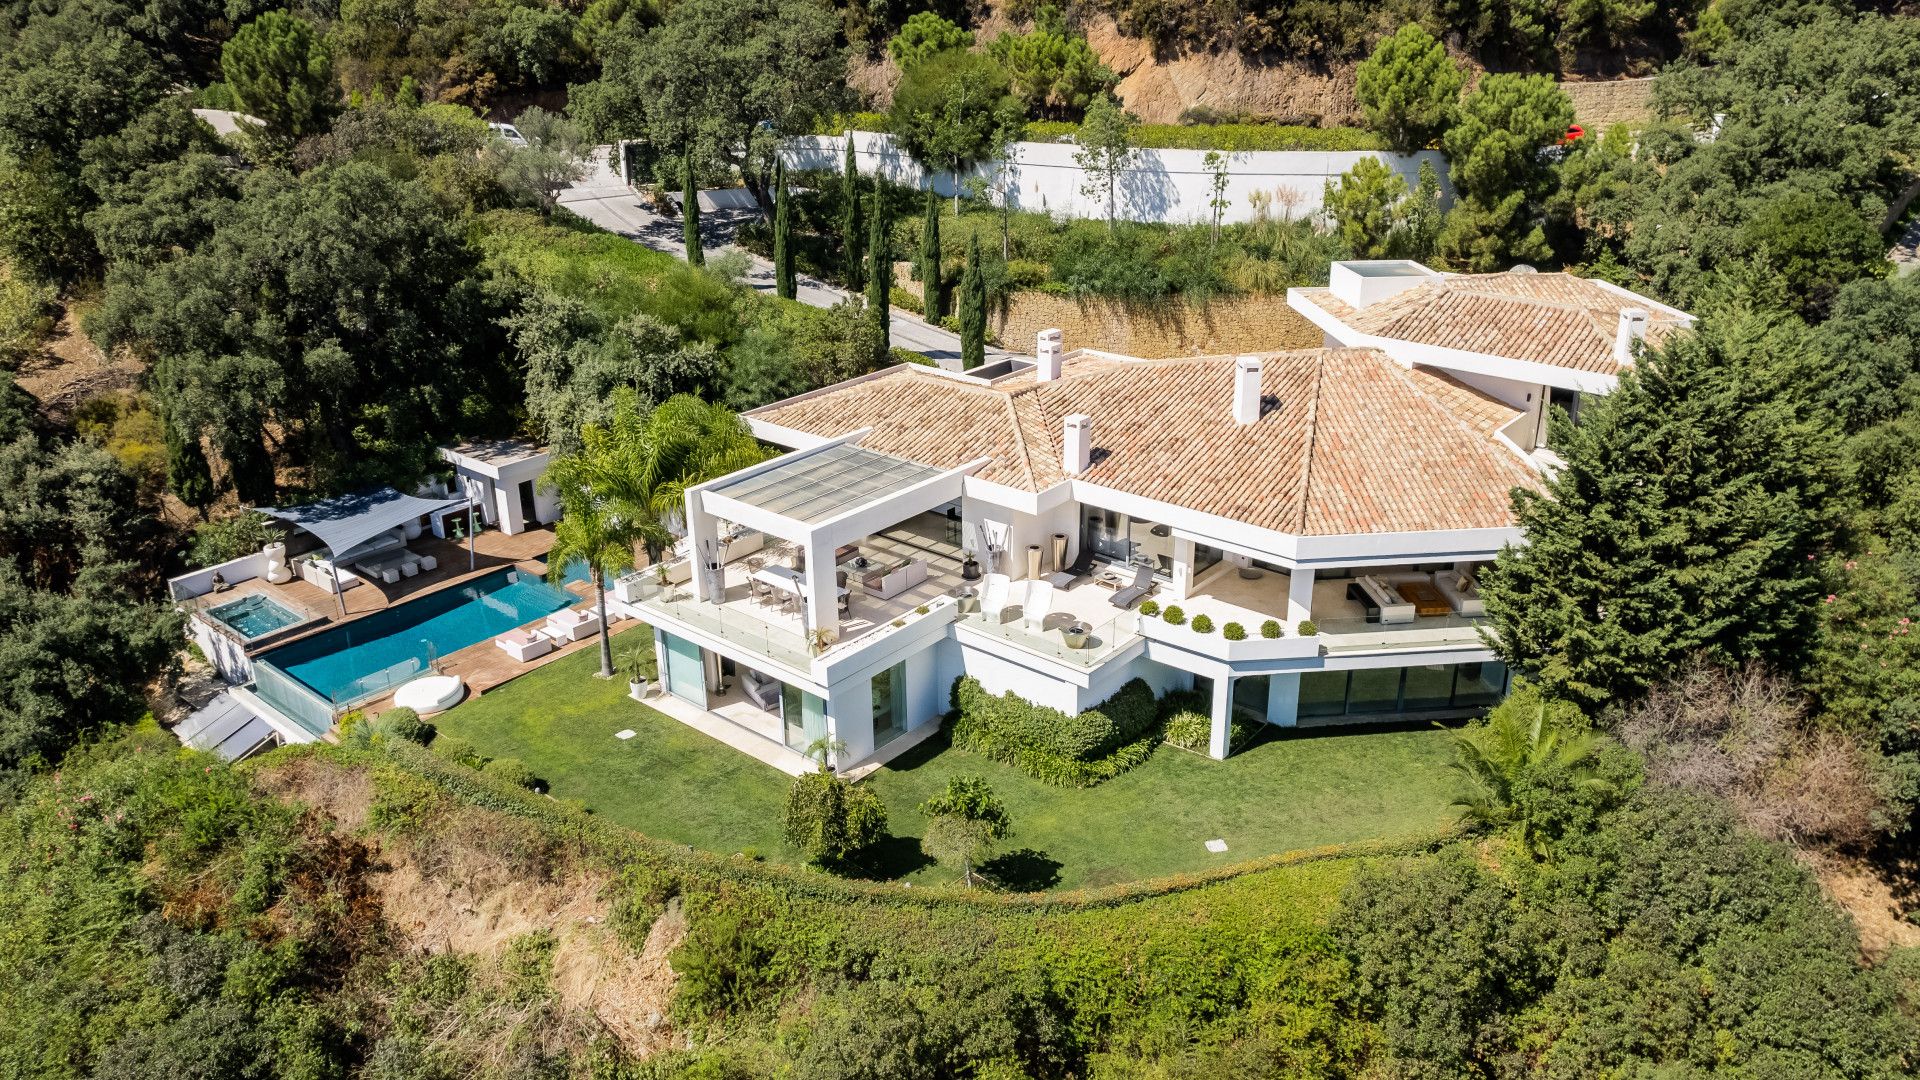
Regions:
<instances>
[{"instance_id":1,"label":"tall palm tree between the swimming pool and the villa","mask_svg":"<svg viewBox=\"0 0 1920 1080\"><path fill-rule=\"evenodd\" d=\"M678 394L647 409L632 388L614 390L612 419L588 425L580 450L555 457L541 484L561 498L547 575L582 559L593 573L601 617L601 678L612 678L607 630L607 573L634 561L634 546L657 563L674 544L687 486L724 477L766 452L732 411Z\"/></svg>"}]
</instances>

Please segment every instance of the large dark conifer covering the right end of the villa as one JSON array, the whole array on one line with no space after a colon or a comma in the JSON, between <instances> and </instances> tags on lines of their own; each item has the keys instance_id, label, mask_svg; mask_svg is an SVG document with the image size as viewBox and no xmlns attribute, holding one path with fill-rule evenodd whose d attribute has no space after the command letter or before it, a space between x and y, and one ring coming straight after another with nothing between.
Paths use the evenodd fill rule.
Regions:
<instances>
[{"instance_id":1,"label":"large dark conifer covering the right end of the villa","mask_svg":"<svg viewBox=\"0 0 1920 1080\"><path fill-rule=\"evenodd\" d=\"M1814 636L1836 434L1784 375L1795 334L1705 327L1555 423L1567 465L1517 490L1526 546L1482 575L1501 657L1586 707L1695 653L1791 665Z\"/></svg>"}]
</instances>

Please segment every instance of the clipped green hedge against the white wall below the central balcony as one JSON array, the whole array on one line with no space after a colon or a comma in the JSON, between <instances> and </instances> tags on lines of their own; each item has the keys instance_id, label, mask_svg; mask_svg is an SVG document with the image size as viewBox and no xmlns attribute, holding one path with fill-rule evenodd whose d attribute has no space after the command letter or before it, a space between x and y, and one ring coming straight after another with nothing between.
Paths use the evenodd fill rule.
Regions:
<instances>
[{"instance_id":1,"label":"clipped green hedge against the white wall below the central balcony","mask_svg":"<svg viewBox=\"0 0 1920 1080\"><path fill-rule=\"evenodd\" d=\"M1102 701L1069 717L1014 694L995 698L979 680L954 680L956 746L1016 765L1046 784L1087 788L1133 769L1152 753L1142 738L1158 719L1154 690L1135 678Z\"/></svg>"}]
</instances>

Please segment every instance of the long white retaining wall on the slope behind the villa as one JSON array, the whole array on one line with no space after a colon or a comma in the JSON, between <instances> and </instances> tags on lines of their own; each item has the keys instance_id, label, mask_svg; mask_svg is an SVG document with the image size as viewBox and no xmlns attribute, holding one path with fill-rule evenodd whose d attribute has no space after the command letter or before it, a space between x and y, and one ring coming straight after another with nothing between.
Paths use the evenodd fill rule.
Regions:
<instances>
[{"instance_id":1,"label":"long white retaining wall on the slope behind the villa","mask_svg":"<svg viewBox=\"0 0 1920 1080\"><path fill-rule=\"evenodd\" d=\"M860 175L881 175L904 186L924 186L925 169L900 150L891 135L872 131L852 133L854 161ZM1000 161L985 161L970 175L979 177L995 190L998 183L1008 186L1014 209L1052 213L1054 217L1106 217L1106 200L1089 198L1081 192L1087 181L1085 169L1073 163L1079 148L1069 142L1016 142L1008 158L1006 177L1000 179ZM845 161L847 142L839 135L812 135L789 138L781 148L789 169L828 169L839 171ZM1194 225L1212 221L1208 206L1213 198L1213 177L1204 160L1206 150L1139 150L1133 165L1119 179L1117 213L1127 221L1158 221L1169 225ZM1446 156L1438 150L1417 154L1390 154L1384 150L1242 150L1227 154L1227 209L1221 221L1252 221L1254 204L1248 198L1254 190L1275 192L1292 188L1300 202L1292 208L1294 217L1321 209L1327 181L1346 173L1361 158L1379 158L1396 173L1405 177L1407 190L1419 181L1421 161L1432 161L1440 173L1440 202L1452 206L1453 186L1448 181ZM933 190L954 194L952 173L933 173ZM998 202L998 200L995 200ZM1273 213L1283 213L1281 206Z\"/></svg>"}]
</instances>

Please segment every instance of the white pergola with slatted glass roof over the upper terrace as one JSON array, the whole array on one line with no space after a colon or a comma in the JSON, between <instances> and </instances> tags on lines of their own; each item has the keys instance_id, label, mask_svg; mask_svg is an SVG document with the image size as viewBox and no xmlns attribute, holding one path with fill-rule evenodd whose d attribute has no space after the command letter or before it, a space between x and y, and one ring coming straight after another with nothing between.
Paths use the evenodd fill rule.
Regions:
<instances>
[{"instance_id":1,"label":"white pergola with slatted glass roof over the upper terrace","mask_svg":"<svg viewBox=\"0 0 1920 1080\"><path fill-rule=\"evenodd\" d=\"M687 538L695 559L693 596L722 603L720 523L732 521L799 544L806 552L806 625L837 636L839 598L833 553L916 513L960 498L968 475L987 457L935 469L856 446L866 429L783 454L687 488Z\"/></svg>"}]
</instances>

